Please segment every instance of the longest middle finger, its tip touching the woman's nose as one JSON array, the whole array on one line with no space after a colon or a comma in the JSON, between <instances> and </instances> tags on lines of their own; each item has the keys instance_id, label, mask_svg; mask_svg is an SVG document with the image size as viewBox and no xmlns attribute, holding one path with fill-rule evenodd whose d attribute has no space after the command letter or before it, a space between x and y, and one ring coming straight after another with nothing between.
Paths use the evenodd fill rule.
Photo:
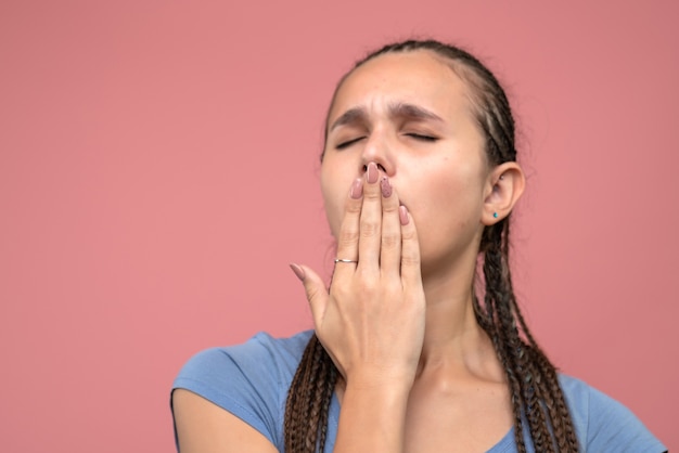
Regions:
<instances>
[{"instance_id":1,"label":"longest middle finger, its tip touching the woman's nose","mask_svg":"<svg viewBox=\"0 0 679 453\"><path fill-rule=\"evenodd\" d=\"M382 242L382 192L380 170L375 163L368 164L363 184L363 206L359 220L358 269L379 272L380 243Z\"/></svg>"}]
</instances>

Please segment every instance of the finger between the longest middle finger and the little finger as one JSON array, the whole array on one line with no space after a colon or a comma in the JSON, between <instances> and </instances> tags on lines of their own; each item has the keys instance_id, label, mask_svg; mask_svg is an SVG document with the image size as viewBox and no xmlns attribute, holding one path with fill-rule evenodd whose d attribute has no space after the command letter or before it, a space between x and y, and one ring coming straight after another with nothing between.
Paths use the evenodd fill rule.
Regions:
<instances>
[{"instance_id":1,"label":"finger between the longest middle finger and the little finger","mask_svg":"<svg viewBox=\"0 0 679 453\"><path fill-rule=\"evenodd\" d=\"M380 269L385 277L398 279L401 266L401 223L398 212L398 196L389 179L380 180L382 194L382 241Z\"/></svg>"}]
</instances>

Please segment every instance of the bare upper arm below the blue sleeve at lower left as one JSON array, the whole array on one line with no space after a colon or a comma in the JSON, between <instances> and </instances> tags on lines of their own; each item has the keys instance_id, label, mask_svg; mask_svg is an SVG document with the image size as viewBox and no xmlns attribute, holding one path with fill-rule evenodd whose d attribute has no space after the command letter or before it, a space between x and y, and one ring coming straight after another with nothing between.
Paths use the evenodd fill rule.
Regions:
<instances>
[{"instance_id":1,"label":"bare upper arm below the blue sleeve at lower left","mask_svg":"<svg viewBox=\"0 0 679 453\"><path fill-rule=\"evenodd\" d=\"M261 432L192 391L172 392L172 412L181 453L278 452Z\"/></svg>"}]
</instances>

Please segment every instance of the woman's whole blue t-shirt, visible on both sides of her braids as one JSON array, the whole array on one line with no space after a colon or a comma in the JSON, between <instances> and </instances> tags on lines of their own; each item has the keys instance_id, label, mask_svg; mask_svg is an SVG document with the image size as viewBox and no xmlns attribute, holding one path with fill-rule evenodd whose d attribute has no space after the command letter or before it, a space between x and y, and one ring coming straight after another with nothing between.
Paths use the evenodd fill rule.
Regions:
<instances>
[{"instance_id":1,"label":"woman's whole blue t-shirt, visible on both sides of her braids","mask_svg":"<svg viewBox=\"0 0 679 453\"><path fill-rule=\"evenodd\" d=\"M283 416L287 389L311 331L291 338L257 334L247 342L213 348L194 355L175 379L182 388L212 401L261 432L284 451ZM560 375L576 435L584 452L661 453L667 449L627 407L581 380ZM337 436L340 402L333 396L324 452L332 452ZM526 448L533 453L527 428ZM514 453L514 429L489 453Z\"/></svg>"}]
</instances>

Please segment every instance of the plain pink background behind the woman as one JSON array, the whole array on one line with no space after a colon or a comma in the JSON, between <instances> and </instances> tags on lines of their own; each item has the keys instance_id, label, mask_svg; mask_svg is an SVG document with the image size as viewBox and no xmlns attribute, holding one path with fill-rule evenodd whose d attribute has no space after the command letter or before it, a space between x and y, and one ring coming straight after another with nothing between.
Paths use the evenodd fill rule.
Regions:
<instances>
[{"instance_id":1,"label":"plain pink background behind the woman","mask_svg":"<svg viewBox=\"0 0 679 453\"><path fill-rule=\"evenodd\" d=\"M310 327L331 91L412 35L509 90L537 337L679 448L679 11L641 3L2 1L2 450L172 451L191 354Z\"/></svg>"}]
</instances>

